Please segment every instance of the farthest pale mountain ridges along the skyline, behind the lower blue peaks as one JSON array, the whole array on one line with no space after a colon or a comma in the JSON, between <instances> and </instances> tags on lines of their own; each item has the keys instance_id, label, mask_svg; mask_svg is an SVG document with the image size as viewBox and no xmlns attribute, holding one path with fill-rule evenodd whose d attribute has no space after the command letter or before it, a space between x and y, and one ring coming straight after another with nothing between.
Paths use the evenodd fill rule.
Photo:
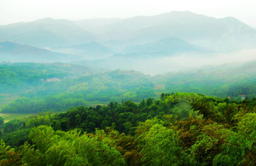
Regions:
<instances>
[{"instance_id":1,"label":"farthest pale mountain ridges along the skyline, behind the lower blue peaks","mask_svg":"<svg viewBox=\"0 0 256 166\"><path fill-rule=\"evenodd\" d=\"M0 42L56 48L96 41L108 44L116 53L124 53L123 48L131 45L153 43L170 37L215 52L233 52L256 45L255 28L235 18L216 19L188 11L127 19L70 21L45 18L0 27Z\"/></svg>"}]
</instances>

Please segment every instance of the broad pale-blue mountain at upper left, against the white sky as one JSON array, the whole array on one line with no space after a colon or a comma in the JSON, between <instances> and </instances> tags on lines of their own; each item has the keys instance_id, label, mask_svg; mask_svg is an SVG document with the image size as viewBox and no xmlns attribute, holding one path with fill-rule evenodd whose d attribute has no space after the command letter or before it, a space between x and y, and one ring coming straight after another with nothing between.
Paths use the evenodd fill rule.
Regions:
<instances>
[{"instance_id":1,"label":"broad pale-blue mountain at upper left, against the white sky","mask_svg":"<svg viewBox=\"0 0 256 166\"><path fill-rule=\"evenodd\" d=\"M68 46L97 40L96 36L69 20L45 18L0 27L0 42L12 41L41 48Z\"/></svg>"}]
</instances>

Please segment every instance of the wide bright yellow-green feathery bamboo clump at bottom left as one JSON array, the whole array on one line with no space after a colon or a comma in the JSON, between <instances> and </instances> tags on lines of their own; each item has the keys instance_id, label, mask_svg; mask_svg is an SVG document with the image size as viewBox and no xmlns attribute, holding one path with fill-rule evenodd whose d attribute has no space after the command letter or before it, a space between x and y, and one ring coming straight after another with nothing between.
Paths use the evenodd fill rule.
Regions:
<instances>
[{"instance_id":1,"label":"wide bright yellow-green feathery bamboo clump at bottom left","mask_svg":"<svg viewBox=\"0 0 256 166\"><path fill-rule=\"evenodd\" d=\"M51 127L39 126L31 130L29 138L38 150L25 145L27 151L25 161L34 162L32 157L38 157L38 165L124 165L122 155L111 147L111 140L103 130L97 130L89 137L81 135L76 130L69 132L54 131ZM44 160L41 160L44 159ZM40 163L41 162L41 163Z\"/></svg>"}]
</instances>

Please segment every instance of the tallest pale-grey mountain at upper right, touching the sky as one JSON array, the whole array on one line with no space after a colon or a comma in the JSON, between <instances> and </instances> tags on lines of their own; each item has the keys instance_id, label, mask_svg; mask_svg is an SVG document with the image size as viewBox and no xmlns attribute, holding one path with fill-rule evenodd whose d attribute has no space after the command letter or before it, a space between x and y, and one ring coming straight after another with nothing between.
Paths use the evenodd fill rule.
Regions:
<instances>
[{"instance_id":1,"label":"tallest pale-grey mountain at upper right, touching the sky","mask_svg":"<svg viewBox=\"0 0 256 166\"><path fill-rule=\"evenodd\" d=\"M131 44L145 44L173 36L217 52L256 44L255 29L235 18L215 19L188 11L135 16L111 23L96 35L106 40L125 39Z\"/></svg>"}]
</instances>

